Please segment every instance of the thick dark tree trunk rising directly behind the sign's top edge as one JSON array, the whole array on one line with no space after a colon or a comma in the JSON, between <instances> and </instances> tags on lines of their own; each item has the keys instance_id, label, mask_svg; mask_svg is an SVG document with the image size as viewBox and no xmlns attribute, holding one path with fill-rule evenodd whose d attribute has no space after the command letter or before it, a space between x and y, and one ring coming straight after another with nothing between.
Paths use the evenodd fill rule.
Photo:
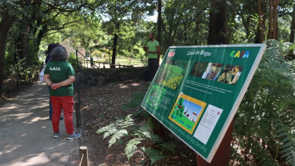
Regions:
<instances>
[{"instance_id":1,"label":"thick dark tree trunk rising directly behind the sign's top edge","mask_svg":"<svg viewBox=\"0 0 295 166\"><path fill-rule=\"evenodd\" d=\"M209 34L208 34L207 42L209 45L225 44L225 34L226 34L225 2L223 0L220 2L213 2L212 8L217 9L219 12L216 13L215 10L210 10Z\"/></svg>"}]
</instances>

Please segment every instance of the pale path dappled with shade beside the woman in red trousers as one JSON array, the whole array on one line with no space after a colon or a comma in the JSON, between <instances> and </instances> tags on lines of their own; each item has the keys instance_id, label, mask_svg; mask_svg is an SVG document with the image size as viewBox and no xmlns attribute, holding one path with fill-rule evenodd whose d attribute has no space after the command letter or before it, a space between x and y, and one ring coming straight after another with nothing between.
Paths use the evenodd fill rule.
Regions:
<instances>
[{"instance_id":1,"label":"pale path dappled with shade beside the woman in red trousers","mask_svg":"<svg viewBox=\"0 0 295 166\"><path fill-rule=\"evenodd\" d=\"M53 139L48 88L37 82L0 105L0 165L79 165L80 140L67 140L64 120L60 131Z\"/></svg>"}]
</instances>

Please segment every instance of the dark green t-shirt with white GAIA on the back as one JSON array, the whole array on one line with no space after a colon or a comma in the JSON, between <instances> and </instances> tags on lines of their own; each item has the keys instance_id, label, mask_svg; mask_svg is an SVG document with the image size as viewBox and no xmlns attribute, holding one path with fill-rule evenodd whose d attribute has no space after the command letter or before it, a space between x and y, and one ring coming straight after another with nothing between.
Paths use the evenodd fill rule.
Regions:
<instances>
[{"instance_id":1,"label":"dark green t-shirt with white GAIA on the back","mask_svg":"<svg viewBox=\"0 0 295 166\"><path fill-rule=\"evenodd\" d=\"M76 76L72 65L67 61L51 61L47 64L44 74L49 74L53 83L62 82L72 75ZM50 96L74 96L73 83L57 90L50 89Z\"/></svg>"}]
</instances>

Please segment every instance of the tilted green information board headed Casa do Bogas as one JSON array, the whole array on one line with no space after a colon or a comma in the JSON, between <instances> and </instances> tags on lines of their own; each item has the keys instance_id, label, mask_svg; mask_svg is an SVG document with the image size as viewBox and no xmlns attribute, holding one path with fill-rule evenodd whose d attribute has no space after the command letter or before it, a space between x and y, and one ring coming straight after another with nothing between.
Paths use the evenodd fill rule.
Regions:
<instances>
[{"instance_id":1,"label":"tilted green information board headed Casa do Bogas","mask_svg":"<svg viewBox=\"0 0 295 166\"><path fill-rule=\"evenodd\" d=\"M141 106L211 162L266 47L169 47Z\"/></svg>"}]
</instances>

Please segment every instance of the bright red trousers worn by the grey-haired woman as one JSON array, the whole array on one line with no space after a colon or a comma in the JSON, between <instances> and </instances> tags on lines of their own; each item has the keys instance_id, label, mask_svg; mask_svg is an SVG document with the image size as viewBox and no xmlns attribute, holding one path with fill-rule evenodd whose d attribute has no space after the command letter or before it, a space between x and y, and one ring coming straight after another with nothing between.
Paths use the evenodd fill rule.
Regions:
<instances>
[{"instance_id":1,"label":"bright red trousers worn by the grey-haired woman","mask_svg":"<svg viewBox=\"0 0 295 166\"><path fill-rule=\"evenodd\" d=\"M73 109L74 109L74 98L73 96L50 96L53 114L52 114L52 127L53 132L60 131L60 117L62 108L64 109L65 125L67 134L74 133L73 126Z\"/></svg>"}]
</instances>

